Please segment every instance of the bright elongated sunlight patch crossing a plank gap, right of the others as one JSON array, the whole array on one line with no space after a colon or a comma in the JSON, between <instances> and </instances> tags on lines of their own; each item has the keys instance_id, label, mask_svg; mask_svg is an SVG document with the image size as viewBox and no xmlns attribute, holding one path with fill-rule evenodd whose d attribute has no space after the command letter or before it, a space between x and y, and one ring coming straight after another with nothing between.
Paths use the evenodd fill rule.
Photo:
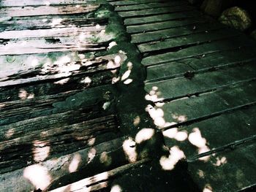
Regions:
<instances>
[{"instance_id":1,"label":"bright elongated sunlight patch crossing a plank gap, right of the others","mask_svg":"<svg viewBox=\"0 0 256 192\"><path fill-rule=\"evenodd\" d=\"M206 139L202 137L199 128L193 128L192 133L189 134L189 142L198 148L198 154L206 153L209 147L206 145ZM210 155L199 158L201 161L208 161Z\"/></svg>"}]
</instances>

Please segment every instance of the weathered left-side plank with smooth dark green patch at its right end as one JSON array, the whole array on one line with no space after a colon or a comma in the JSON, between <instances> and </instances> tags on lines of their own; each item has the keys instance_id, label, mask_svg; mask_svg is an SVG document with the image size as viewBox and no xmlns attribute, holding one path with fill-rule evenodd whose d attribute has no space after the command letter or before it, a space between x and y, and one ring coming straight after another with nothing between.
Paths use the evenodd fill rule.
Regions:
<instances>
[{"instance_id":1,"label":"weathered left-side plank with smooth dark green patch at its right end","mask_svg":"<svg viewBox=\"0 0 256 192\"><path fill-rule=\"evenodd\" d=\"M3 109L1 110L1 125L51 115L56 112L77 110L80 107L89 107L91 109L93 105L95 109L104 111L103 105L107 101L110 102L113 99L111 96L116 92L110 85L98 85L97 87L86 88L84 91L72 91L67 93L66 96L64 93L56 94L56 96L45 96L45 102L39 100L42 99L42 97L38 97L38 99L26 99L26 96L29 95L29 93L27 93L27 95L26 93L26 89L20 90L19 92L18 96L20 96L20 99L23 101L13 101L11 104L1 103L1 108ZM109 95L106 95L106 93ZM24 96L21 94L23 94L25 98L23 98ZM59 98L57 96L59 96ZM110 99L105 99L106 96L110 97ZM15 106L12 106L12 104L20 104L22 107L17 109Z\"/></svg>"}]
</instances>

